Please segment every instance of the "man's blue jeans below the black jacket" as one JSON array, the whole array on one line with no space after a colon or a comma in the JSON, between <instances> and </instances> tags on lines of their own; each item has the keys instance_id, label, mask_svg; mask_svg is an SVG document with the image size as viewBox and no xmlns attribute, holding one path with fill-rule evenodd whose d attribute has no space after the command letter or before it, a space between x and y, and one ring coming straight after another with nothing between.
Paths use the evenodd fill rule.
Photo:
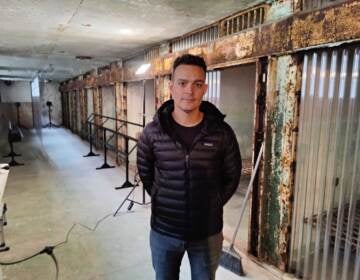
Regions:
<instances>
[{"instance_id":1,"label":"man's blue jeans below the black jacket","mask_svg":"<svg viewBox=\"0 0 360 280\"><path fill-rule=\"evenodd\" d=\"M156 280L178 280L181 260L188 254L192 280L214 280L222 249L222 233L205 240L183 241L150 231L150 248Z\"/></svg>"}]
</instances>

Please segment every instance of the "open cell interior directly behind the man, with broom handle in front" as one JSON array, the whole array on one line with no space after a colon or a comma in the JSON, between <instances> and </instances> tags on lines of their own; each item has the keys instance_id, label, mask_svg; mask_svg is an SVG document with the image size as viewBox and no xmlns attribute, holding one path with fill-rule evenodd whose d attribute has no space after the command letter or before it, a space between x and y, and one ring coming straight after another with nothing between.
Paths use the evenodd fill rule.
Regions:
<instances>
[{"instance_id":1,"label":"open cell interior directly behind the man, with broom handle in front","mask_svg":"<svg viewBox=\"0 0 360 280\"><path fill-rule=\"evenodd\" d=\"M206 83L208 90L204 100L213 103L226 115L225 121L233 128L242 155L243 170L239 187L235 198L225 208L225 232L232 233L252 169L256 65L251 63L208 71ZM238 245L245 251L248 226L248 215L245 215L237 239Z\"/></svg>"}]
</instances>

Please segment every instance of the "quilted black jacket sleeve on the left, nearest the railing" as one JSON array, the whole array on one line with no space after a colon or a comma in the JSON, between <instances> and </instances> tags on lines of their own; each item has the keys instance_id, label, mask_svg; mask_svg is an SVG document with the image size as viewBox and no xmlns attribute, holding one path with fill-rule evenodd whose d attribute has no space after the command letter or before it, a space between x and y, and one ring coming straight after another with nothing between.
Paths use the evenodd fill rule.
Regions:
<instances>
[{"instance_id":1,"label":"quilted black jacket sleeve on the left, nearest the railing","mask_svg":"<svg viewBox=\"0 0 360 280\"><path fill-rule=\"evenodd\" d=\"M148 194L154 181L154 154L149 140L149 127L147 126L140 135L137 147L137 168L140 179Z\"/></svg>"}]
</instances>

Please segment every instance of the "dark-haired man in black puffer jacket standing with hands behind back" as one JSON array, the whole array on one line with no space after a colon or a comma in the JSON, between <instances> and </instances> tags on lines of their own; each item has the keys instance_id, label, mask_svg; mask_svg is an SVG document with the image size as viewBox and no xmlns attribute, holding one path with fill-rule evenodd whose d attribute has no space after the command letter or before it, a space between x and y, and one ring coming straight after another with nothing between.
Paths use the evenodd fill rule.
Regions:
<instances>
[{"instance_id":1,"label":"dark-haired man in black puffer jacket standing with hands behind back","mask_svg":"<svg viewBox=\"0 0 360 280\"><path fill-rule=\"evenodd\" d=\"M215 279L222 248L223 206L241 172L239 146L224 115L202 101L206 64L183 55L170 92L140 136L137 166L152 199L150 247L157 280L179 279L188 254L192 280Z\"/></svg>"}]
</instances>

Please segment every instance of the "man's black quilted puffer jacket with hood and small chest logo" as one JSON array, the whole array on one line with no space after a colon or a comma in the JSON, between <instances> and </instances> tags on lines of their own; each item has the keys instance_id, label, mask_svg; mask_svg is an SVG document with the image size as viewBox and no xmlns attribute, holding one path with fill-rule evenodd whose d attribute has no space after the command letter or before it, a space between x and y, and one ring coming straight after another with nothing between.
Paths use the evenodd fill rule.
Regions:
<instances>
[{"instance_id":1,"label":"man's black quilted puffer jacket with hood and small chest logo","mask_svg":"<svg viewBox=\"0 0 360 280\"><path fill-rule=\"evenodd\" d=\"M182 240L203 239L223 227L223 206L235 192L241 156L224 115L203 101L203 129L190 151L172 129L172 100L164 103L140 136L137 166L152 198L153 230Z\"/></svg>"}]
</instances>

